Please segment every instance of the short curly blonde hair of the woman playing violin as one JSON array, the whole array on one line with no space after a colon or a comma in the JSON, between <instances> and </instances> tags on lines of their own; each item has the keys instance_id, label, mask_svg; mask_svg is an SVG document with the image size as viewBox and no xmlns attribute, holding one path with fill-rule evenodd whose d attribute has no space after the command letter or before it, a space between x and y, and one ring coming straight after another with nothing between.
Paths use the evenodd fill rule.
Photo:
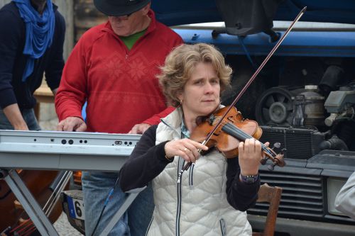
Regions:
<instances>
[{"instance_id":1,"label":"short curly blonde hair of the woman playing violin","mask_svg":"<svg viewBox=\"0 0 355 236\"><path fill-rule=\"evenodd\" d=\"M230 86L231 67L225 64L224 57L213 45L196 43L176 47L165 59L158 75L163 94L174 107L180 105L178 94L183 91L196 65L200 62L211 63L216 70L221 86L221 93Z\"/></svg>"}]
</instances>

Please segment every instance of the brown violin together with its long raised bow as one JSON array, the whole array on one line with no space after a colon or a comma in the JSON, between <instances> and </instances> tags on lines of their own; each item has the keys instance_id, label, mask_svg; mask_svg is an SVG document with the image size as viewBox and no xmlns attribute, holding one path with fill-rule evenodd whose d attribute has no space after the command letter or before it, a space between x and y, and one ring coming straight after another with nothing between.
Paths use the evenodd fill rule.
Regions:
<instances>
[{"instance_id":1,"label":"brown violin together with its long raised bow","mask_svg":"<svg viewBox=\"0 0 355 236\"><path fill-rule=\"evenodd\" d=\"M253 76L249 79L246 85L241 89L238 96L234 99L230 106L226 106L225 108L219 109L216 113L213 113L212 116L209 116L207 122L203 122L195 128L190 135L190 138L195 141L202 141L203 145L214 145L217 147L219 151L224 153L226 157L235 157L238 154L238 144L239 140L246 140L247 138L253 137L258 139L261 137L262 131L261 128L258 127L258 124L253 120L244 120L241 113L239 113L234 105L244 94L246 89L249 88L251 83L256 79L261 69L265 66L266 62L273 56L273 53L278 49L285 37L290 33L293 26L297 21L303 16L307 9L305 6L300 13L296 16L295 20L291 23L290 27L286 30L286 32L282 35L282 37L278 40L278 43L275 44L271 52L266 56L263 62L260 64L256 72L254 72ZM233 112L233 110L235 110ZM231 112L231 113L230 113ZM221 116L222 115L222 116ZM206 121L206 120L205 120ZM244 125L241 125L244 123ZM239 126L238 126L239 125ZM201 126L201 128L199 128ZM243 127L243 128L241 128ZM224 135L225 133L225 135ZM219 137L220 136L220 137ZM213 137L213 138L212 138ZM276 147L279 144L276 144ZM276 154L272 149L262 145L263 152L266 154L266 157L261 159L261 164L266 164L267 159L272 159L273 164L269 167L269 169L273 170L275 165L280 167L285 166L285 162L283 161L283 154ZM201 151L200 151L201 152ZM190 168L192 162L188 162L185 164L178 174L178 183L181 181L182 173Z\"/></svg>"}]
</instances>

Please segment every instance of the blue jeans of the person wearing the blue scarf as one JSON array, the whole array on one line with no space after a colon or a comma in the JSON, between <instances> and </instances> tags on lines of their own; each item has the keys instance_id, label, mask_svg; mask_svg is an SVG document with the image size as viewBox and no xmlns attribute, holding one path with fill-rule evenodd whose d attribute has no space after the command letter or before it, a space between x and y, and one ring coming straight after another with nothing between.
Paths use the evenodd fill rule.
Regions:
<instances>
[{"instance_id":1,"label":"blue jeans of the person wearing the blue scarf","mask_svg":"<svg viewBox=\"0 0 355 236\"><path fill-rule=\"evenodd\" d=\"M35 112L33 109L23 109L21 111L23 120L25 120L29 130L40 130L37 119L35 118ZM13 130L13 126L6 118L4 111L0 108L0 130Z\"/></svg>"}]
</instances>

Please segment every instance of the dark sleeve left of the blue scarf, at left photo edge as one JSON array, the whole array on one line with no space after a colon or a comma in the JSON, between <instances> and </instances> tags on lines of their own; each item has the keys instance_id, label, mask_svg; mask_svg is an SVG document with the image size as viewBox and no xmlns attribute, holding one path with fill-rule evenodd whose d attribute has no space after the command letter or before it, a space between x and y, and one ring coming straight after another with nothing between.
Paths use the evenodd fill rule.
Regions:
<instances>
[{"instance_id":1,"label":"dark sleeve left of the blue scarf, at left photo edge","mask_svg":"<svg viewBox=\"0 0 355 236\"><path fill-rule=\"evenodd\" d=\"M13 86L13 67L21 40L23 23L13 12L0 11L0 106L17 103Z\"/></svg>"}]
</instances>

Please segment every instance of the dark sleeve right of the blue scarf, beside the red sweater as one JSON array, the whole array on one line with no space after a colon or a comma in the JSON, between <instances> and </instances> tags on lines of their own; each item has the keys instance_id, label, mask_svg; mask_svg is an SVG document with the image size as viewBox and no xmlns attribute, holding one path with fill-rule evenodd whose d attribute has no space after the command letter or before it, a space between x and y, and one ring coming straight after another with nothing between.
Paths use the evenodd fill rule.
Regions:
<instances>
[{"instance_id":1,"label":"dark sleeve right of the blue scarf, beside the red sweater","mask_svg":"<svg viewBox=\"0 0 355 236\"><path fill-rule=\"evenodd\" d=\"M64 17L55 11L55 33L53 35L53 45L50 50L50 59L45 67L45 80L50 89L57 89L62 77L64 68L63 47L65 38L65 20Z\"/></svg>"}]
</instances>

